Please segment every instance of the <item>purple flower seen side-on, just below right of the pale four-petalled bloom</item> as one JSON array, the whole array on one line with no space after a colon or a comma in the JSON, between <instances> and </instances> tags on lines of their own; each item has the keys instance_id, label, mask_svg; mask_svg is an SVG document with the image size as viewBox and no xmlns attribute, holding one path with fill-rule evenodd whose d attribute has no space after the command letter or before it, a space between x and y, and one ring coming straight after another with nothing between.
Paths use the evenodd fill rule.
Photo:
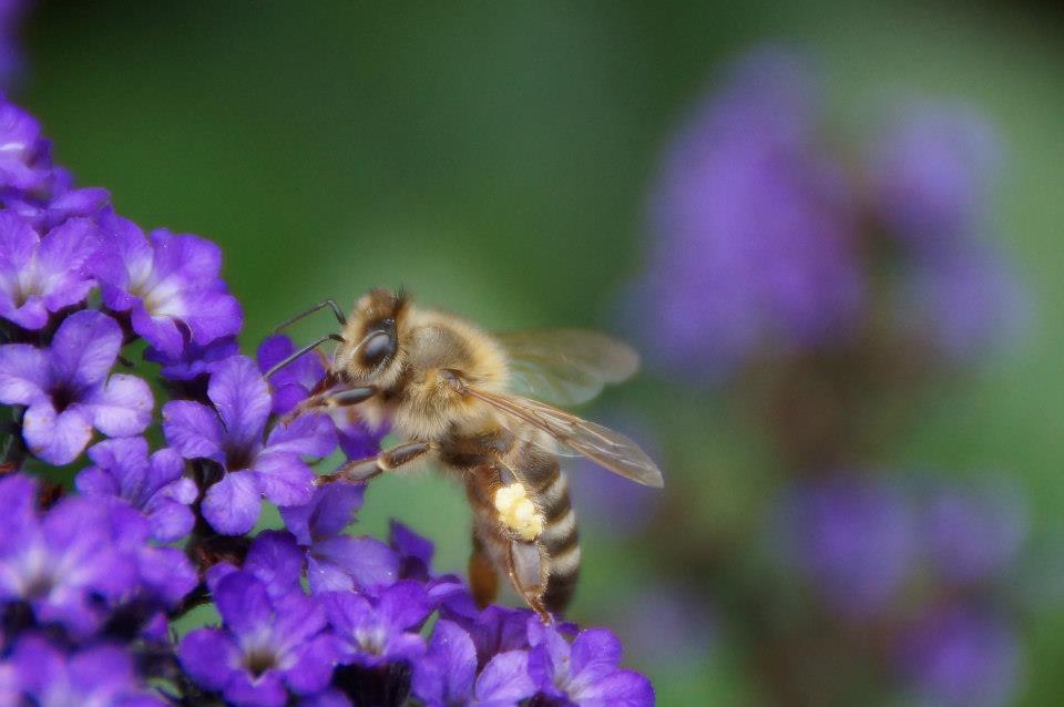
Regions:
<instances>
[{"instance_id":1,"label":"purple flower seen side-on, just below right of the pale four-petalled bloom","mask_svg":"<svg viewBox=\"0 0 1064 707\"><path fill-rule=\"evenodd\" d=\"M196 485L182 477L181 454L161 449L149 458L147 441L131 437L100 442L89 450L89 459L95 465L74 480L83 495L121 499L142 511L160 542L173 542L192 530L195 519L188 504L196 500Z\"/></svg>"}]
</instances>

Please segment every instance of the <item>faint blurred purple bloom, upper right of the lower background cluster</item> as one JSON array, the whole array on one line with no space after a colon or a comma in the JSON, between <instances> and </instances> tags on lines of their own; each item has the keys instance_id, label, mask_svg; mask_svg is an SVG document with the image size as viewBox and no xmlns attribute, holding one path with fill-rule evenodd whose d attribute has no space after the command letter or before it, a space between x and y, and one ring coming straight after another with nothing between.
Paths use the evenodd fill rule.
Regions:
<instances>
[{"instance_id":1,"label":"faint blurred purple bloom, upper right of the lower background cluster","mask_svg":"<svg viewBox=\"0 0 1064 707\"><path fill-rule=\"evenodd\" d=\"M961 584L1007 575L1027 537L1026 505L1006 479L943 485L923 516L932 568Z\"/></svg>"}]
</instances>

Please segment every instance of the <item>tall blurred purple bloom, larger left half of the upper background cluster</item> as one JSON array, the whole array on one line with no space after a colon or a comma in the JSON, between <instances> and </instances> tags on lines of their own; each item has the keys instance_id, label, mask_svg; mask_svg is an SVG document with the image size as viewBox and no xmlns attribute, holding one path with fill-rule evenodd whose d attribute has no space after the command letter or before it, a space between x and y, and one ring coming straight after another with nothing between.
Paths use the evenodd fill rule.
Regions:
<instances>
[{"instance_id":1,"label":"tall blurred purple bloom, larger left half of the upper background cluster","mask_svg":"<svg viewBox=\"0 0 1064 707\"><path fill-rule=\"evenodd\" d=\"M862 300L850 195L816 150L802 62L756 52L668 148L633 297L666 369L726 373L764 347L848 331Z\"/></svg>"}]
</instances>

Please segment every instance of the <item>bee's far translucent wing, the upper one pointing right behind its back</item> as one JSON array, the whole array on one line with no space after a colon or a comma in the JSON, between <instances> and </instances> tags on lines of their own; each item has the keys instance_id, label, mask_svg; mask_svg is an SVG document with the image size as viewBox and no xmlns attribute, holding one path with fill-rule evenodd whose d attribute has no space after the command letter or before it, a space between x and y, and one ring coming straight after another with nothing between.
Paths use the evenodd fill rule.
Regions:
<instances>
[{"instance_id":1,"label":"bee's far translucent wing, the upper one pointing right behind its back","mask_svg":"<svg viewBox=\"0 0 1064 707\"><path fill-rule=\"evenodd\" d=\"M495 338L510 360L510 390L553 404L587 402L640 368L631 346L597 331L539 329Z\"/></svg>"}]
</instances>

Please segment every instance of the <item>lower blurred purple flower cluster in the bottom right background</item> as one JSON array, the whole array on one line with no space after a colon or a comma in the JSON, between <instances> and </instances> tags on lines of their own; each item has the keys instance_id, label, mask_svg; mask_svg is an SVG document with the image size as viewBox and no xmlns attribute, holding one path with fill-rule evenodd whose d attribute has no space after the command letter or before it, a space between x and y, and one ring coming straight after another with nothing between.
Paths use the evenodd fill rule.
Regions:
<instances>
[{"instance_id":1,"label":"lower blurred purple flower cluster in the bottom right background","mask_svg":"<svg viewBox=\"0 0 1064 707\"><path fill-rule=\"evenodd\" d=\"M795 485L774 523L780 557L822 604L856 625L896 625L912 690L935 705L1010 704L1021 654L993 596L1026 536L1014 488L839 475Z\"/></svg>"}]
</instances>

